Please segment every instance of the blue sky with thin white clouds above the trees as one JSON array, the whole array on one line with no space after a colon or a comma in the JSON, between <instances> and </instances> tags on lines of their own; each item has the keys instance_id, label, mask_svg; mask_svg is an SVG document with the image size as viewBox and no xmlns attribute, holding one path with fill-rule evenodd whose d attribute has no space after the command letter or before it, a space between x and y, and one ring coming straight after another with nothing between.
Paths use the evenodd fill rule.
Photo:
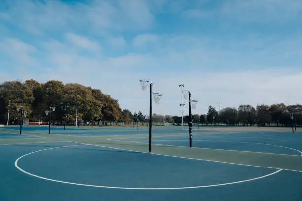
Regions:
<instances>
[{"instance_id":1,"label":"blue sky with thin white clouds above the trees","mask_svg":"<svg viewBox=\"0 0 302 201\"><path fill-rule=\"evenodd\" d=\"M156 114L181 115L180 83L196 114L297 104L301 24L301 0L1 0L0 82L80 83L146 115L140 79Z\"/></svg>"}]
</instances>

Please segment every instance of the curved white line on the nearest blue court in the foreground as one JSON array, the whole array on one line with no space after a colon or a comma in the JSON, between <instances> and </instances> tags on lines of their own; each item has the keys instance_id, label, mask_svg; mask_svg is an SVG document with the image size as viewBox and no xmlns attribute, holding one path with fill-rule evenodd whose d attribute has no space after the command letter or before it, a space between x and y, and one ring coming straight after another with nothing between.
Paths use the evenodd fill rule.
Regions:
<instances>
[{"instance_id":1,"label":"curved white line on the nearest blue court in the foreground","mask_svg":"<svg viewBox=\"0 0 302 201\"><path fill-rule=\"evenodd\" d=\"M131 189L131 190L176 190L176 189L196 189L196 188L206 188L206 187L215 187L215 186L224 186L224 185L230 185L230 184L237 184L237 183L243 183L243 182L247 182L247 181L253 181L253 180L257 180L257 179L262 179L271 175L274 175L276 173L279 173L280 171L282 171L283 169L278 169L277 171L274 171L270 174L266 174L264 176L260 176L260 177L256 177L256 178L252 178L252 179L246 179L246 180L241 180L241 181L235 181L235 182L229 182L229 183L223 183L223 184L213 184L213 185L205 185L205 186L190 186L190 187L172 187L172 188L131 188L131 187L114 187L114 186L99 186L99 185L90 185L90 184L81 184L81 183L74 183L74 182L66 182L66 181L60 181L60 180L55 180L55 179L49 179L46 177L41 177L35 174L31 174L25 170L23 170L21 167L18 166L18 161L20 159L22 159L25 156L28 156L30 154L34 154L37 152L41 152L41 151L45 151L45 150L50 150L50 149L57 149L57 148L63 148L63 147L74 147L74 146L83 146L86 144L78 144L78 145L71 145L71 146L61 146L61 147L53 147L53 148L48 148L48 149L42 149L42 150L38 150L38 151L34 151L28 154L25 154L21 157L19 157L16 161L15 161L15 167L20 170L21 172L28 174L30 176L33 177L37 177L40 179L44 179L44 180L48 180L48 181L53 181L53 182L58 182L58 183L64 183L64 184L72 184L72 185L77 185L77 186L87 186L87 187L97 187L97 188L110 188L110 189Z\"/></svg>"}]
</instances>

